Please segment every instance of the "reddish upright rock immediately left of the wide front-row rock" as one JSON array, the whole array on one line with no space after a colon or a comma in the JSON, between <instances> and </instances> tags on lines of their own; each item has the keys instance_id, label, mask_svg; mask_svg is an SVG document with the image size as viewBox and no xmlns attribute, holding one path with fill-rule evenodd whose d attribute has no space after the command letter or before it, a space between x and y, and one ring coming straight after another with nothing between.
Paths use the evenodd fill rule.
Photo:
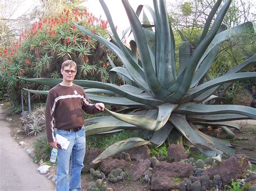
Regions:
<instances>
[{"instance_id":1,"label":"reddish upright rock immediately left of the wide front-row rock","mask_svg":"<svg viewBox=\"0 0 256 191\"><path fill-rule=\"evenodd\" d=\"M147 168L151 165L151 161L149 159L143 160L139 159L136 163L132 164L128 167L127 172L130 174L132 180L139 180L143 174L146 172Z\"/></svg>"}]
</instances>

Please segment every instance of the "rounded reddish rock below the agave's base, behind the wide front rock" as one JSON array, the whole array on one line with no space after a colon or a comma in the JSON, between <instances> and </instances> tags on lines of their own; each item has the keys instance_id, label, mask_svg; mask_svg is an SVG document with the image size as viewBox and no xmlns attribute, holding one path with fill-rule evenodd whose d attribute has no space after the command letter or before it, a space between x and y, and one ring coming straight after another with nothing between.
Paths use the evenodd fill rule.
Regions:
<instances>
[{"instance_id":1,"label":"rounded reddish rock below the agave's base, behind the wide front rock","mask_svg":"<svg viewBox=\"0 0 256 191\"><path fill-rule=\"evenodd\" d=\"M167 153L168 153L169 160L174 162L178 162L181 159L187 158L187 153L182 145L171 144L168 148Z\"/></svg>"}]
</instances>

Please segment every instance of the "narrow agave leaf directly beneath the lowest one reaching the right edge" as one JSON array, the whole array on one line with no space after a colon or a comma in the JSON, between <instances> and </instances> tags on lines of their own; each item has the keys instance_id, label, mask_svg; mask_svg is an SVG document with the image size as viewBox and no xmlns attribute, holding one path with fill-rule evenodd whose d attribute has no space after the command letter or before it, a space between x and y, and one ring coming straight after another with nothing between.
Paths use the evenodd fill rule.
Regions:
<instances>
[{"instance_id":1,"label":"narrow agave leaf directly beneath the lowest one reaching the right edge","mask_svg":"<svg viewBox=\"0 0 256 191\"><path fill-rule=\"evenodd\" d=\"M187 121L200 121L200 122L225 122L249 119L249 117L239 114L213 114L213 115L186 115Z\"/></svg>"}]
</instances>

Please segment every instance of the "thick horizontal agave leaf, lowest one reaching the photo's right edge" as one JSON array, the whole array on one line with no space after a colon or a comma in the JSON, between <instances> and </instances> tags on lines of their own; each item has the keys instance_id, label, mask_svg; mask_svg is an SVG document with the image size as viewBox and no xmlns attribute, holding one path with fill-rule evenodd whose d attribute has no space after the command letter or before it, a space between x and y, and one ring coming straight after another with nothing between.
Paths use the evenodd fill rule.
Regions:
<instances>
[{"instance_id":1,"label":"thick horizontal agave leaf, lowest one reaching the photo's right edge","mask_svg":"<svg viewBox=\"0 0 256 191\"><path fill-rule=\"evenodd\" d=\"M181 104L176 110L178 114L240 114L256 119L256 109L244 105L203 105L196 103ZM229 120L230 121L230 120Z\"/></svg>"}]
</instances>

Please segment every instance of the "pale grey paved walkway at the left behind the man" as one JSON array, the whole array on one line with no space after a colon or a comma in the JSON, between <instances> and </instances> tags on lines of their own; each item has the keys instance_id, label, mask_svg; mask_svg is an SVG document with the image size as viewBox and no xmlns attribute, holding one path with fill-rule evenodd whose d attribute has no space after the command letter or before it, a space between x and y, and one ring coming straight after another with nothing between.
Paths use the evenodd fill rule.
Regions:
<instances>
[{"instance_id":1,"label":"pale grey paved walkway at the left behind the man","mask_svg":"<svg viewBox=\"0 0 256 191\"><path fill-rule=\"evenodd\" d=\"M55 190L46 176L37 172L38 165L10 136L0 106L0 190Z\"/></svg>"}]
</instances>

